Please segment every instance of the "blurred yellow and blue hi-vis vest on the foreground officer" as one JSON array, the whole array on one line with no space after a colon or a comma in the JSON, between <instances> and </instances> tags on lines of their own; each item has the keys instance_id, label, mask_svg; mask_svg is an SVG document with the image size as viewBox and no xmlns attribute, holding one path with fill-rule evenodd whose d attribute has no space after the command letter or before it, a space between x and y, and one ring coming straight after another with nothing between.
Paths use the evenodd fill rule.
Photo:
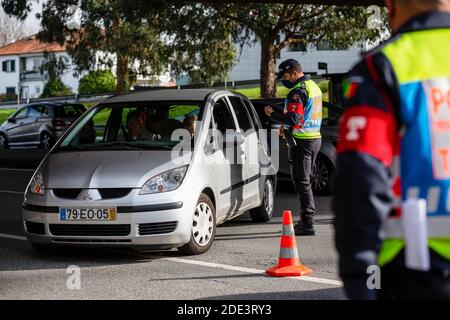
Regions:
<instances>
[{"instance_id":1,"label":"blurred yellow and blue hi-vis vest on the foreground officer","mask_svg":"<svg viewBox=\"0 0 450 320\"><path fill-rule=\"evenodd\" d=\"M401 200L427 200L428 246L450 260L450 29L407 32L381 52L399 82ZM400 219L384 223L381 266L404 248Z\"/></svg>"}]
</instances>

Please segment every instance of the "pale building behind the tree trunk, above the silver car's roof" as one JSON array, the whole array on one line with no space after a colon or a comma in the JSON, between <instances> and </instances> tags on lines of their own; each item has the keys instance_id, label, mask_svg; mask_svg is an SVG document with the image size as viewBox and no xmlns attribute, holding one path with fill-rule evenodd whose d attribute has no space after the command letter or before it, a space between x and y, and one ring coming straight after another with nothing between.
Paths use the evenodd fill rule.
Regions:
<instances>
[{"instance_id":1,"label":"pale building behind the tree trunk, above the silver car's roof","mask_svg":"<svg viewBox=\"0 0 450 320\"><path fill-rule=\"evenodd\" d=\"M346 50L332 49L329 44L318 46L293 44L281 50L277 59L278 65L286 59L296 59L307 73L324 73L318 69L319 62L328 64L328 73L342 73L350 71L351 67L360 59L361 52L366 51L366 45L355 45ZM231 81L256 80L260 78L261 45L245 45L238 50L239 61L230 73ZM276 69L277 70L277 69Z\"/></svg>"}]
</instances>

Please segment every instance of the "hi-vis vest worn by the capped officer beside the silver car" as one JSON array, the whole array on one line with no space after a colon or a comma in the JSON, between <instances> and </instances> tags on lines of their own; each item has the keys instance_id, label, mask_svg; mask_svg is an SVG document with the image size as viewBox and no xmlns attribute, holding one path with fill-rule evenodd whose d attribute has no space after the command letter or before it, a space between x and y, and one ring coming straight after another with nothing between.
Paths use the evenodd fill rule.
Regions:
<instances>
[{"instance_id":1,"label":"hi-vis vest worn by the capped officer beside the silver car","mask_svg":"<svg viewBox=\"0 0 450 320\"><path fill-rule=\"evenodd\" d=\"M308 93L308 101L303 106L303 117L300 122L292 127L292 135L297 139L318 139L321 138L322 126L322 91L319 86L313 80L297 83L286 98L286 106L290 103L291 93L300 89L303 83Z\"/></svg>"}]
</instances>

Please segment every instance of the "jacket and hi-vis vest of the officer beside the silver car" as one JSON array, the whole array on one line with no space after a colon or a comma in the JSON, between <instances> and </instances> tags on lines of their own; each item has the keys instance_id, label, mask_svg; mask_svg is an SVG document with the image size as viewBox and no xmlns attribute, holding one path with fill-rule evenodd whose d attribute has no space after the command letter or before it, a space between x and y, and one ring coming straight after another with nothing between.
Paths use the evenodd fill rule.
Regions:
<instances>
[{"instance_id":1,"label":"jacket and hi-vis vest of the officer beside the silver car","mask_svg":"<svg viewBox=\"0 0 450 320\"><path fill-rule=\"evenodd\" d=\"M308 75L298 79L286 97L284 112L274 112L272 118L290 126L298 139L320 138L322 125L322 91Z\"/></svg>"}]
</instances>

